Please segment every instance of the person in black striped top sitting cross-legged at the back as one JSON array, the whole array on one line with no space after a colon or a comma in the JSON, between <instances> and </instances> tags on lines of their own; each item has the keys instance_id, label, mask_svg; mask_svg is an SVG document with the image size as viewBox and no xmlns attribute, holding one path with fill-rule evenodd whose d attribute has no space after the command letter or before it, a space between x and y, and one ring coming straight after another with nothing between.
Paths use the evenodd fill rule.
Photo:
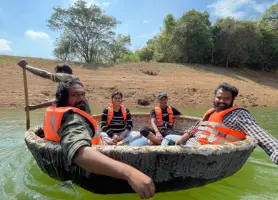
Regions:
<instances>
[{"instance_id":1,"label":"person in black striped top sitting cross-legged at the back","mask_svg":"<svg viewBox=\"0 0 278 200\"><path fill-rule=\"evenodd\" d=\"M115 91L111 96L112 103L101 115L101 137L106 144L116 145L124 139L139 138L139 132L131 131L133 123L128 108L122 105L123 94ZM130 141L129 141L130 142Z\"/></svg>"}]
</instances>

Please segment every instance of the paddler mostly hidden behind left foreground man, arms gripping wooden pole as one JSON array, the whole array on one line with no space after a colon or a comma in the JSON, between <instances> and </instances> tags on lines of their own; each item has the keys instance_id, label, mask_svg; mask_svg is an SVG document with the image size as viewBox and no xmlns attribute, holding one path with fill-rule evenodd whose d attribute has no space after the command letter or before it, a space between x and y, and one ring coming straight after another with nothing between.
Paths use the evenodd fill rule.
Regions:
<instances>
[{"instance_id":1,"label":"paddler mostly hidden behind left foreground man, arms gripping wooden pole","mask_svg":"<svg viewBox=\"0 0 278 200\"><path fill-rule=\"evenodd\" d=\"M79 80L79 77L72 74L72 69L68 65L57 65L54 68L55 73L52 74L48 71L45 71L45 70L42 70L42 69L39 69L39 68L35 68L35 67L32 67L32 66L28 65L28 63L25 60L21 60L17 64L21 68L26 69L27 71L29 71L29 72L31 72L31 73L39 76L39 77L50 79L53 82L61 82L61 81L65 81L69 78ZM55 100L49 100L49 101L43 102L43 103L38 104L38 105L29 105L28 109L29 110L35 110L35 109L38 109L38 108L45 108L45 107L51 106L52 103L55 103ZM27 108L25 107L25 110L26 109Z\"/></svg>"}]
</instances>

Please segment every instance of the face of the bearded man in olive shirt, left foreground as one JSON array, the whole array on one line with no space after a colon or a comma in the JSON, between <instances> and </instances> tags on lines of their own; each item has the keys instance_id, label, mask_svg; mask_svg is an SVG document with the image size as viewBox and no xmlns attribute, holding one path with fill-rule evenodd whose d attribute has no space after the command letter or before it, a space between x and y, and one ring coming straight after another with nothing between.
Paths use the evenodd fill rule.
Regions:
<instances>
[{"instance_id":1,"label":"face of the bearded man in olive shirt, left foreground","mask_svg":"<svg viewBox=\"0 0 278 200\"><path fill-rule=\"evenodd\" d=\"M85 90L80 84L74 84L69 88L68 105L87 111L88 105Z\"/></svg>"}]
</instances>

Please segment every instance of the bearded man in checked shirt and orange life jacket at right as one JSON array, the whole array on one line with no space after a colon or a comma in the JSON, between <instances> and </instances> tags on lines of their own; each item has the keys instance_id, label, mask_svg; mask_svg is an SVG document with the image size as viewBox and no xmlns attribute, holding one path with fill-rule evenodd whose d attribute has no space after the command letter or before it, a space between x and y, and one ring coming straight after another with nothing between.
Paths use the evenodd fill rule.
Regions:
<instances>
[{"instance_id":1,"label":"bearded man in checked shirt and orange life jacket at right","mask_svg":"<svg viewBox=\"0 0 278 200\"><path fill-rule=\"evenodd\" d=\"M248 135L278 164L278 140L260 127L246 109L234 105L238 89L231 84L221 83L214 94L213 108L205 113L200 122L183 136L166 136L162 145L167 145L169 140L188 146L223 144L244 140Z\"/></svg>"}]
</instances>

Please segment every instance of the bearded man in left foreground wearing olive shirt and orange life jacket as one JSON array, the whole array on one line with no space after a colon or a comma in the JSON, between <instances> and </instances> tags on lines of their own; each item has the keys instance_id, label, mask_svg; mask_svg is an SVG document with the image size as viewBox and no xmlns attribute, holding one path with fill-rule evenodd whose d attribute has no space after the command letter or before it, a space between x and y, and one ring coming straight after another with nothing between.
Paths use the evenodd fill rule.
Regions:
<instances>
[{"instance_id":1,"label":"bearded man in left foreground wearing olive shirt and orange life jacket","mask_svg":"<svg viewBox=\"0 0 278 200\"><path fill-rule=\"evenodd\" d=\"M60 142L70 168L78 165L88 172L126 180L141 198L154 195L155 186L148 176L91 148L97 125L87 113L88 103L79 81L70 79L60 82L56 102L56 107L47 108L45 138ZM53 129L58 129L57 133Z\"/></svg>"}]
</instances>

